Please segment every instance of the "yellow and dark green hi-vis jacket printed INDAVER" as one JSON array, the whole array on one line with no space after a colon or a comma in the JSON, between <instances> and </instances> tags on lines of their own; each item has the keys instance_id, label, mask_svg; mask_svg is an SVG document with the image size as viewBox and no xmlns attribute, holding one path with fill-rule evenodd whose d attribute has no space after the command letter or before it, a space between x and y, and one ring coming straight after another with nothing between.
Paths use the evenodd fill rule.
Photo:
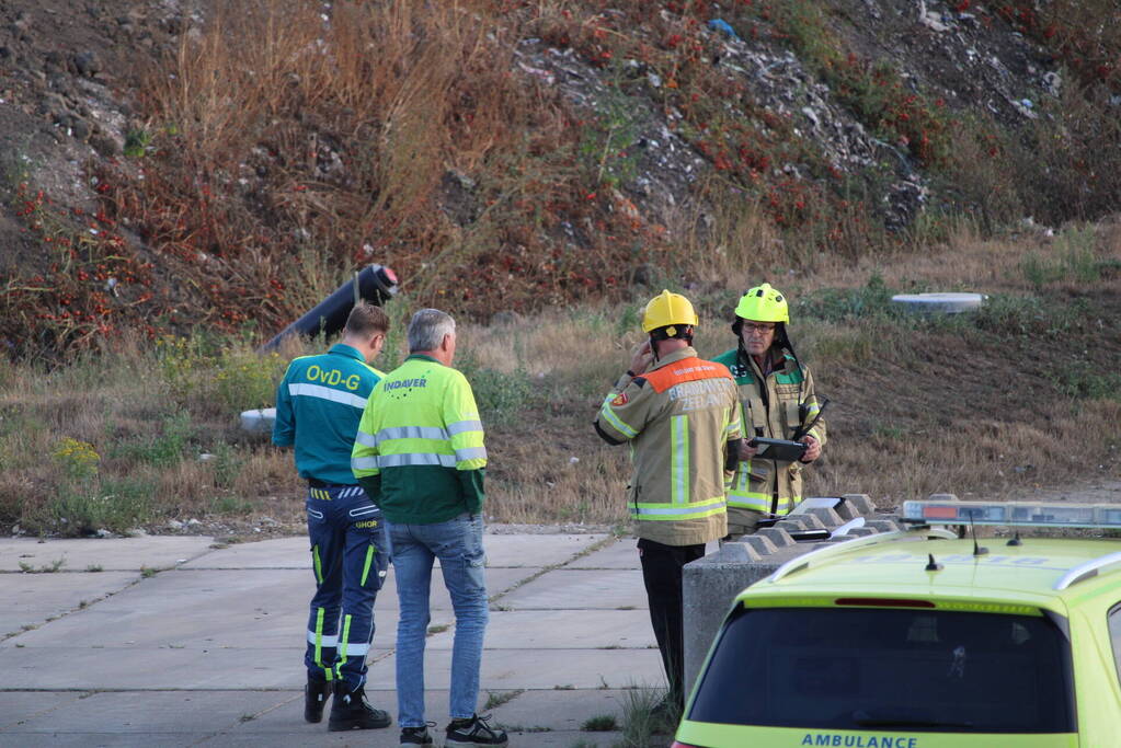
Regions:
<instances>
[{"instance_id":1,"label":"yellow and dark green hi-vis jacket printed INDAVER","mask_svg":"<svg viewBox=\"0 0 1121 748\"><path fill-rule=\"evenodd\" d=\"M411 355L370 395L351 469L389 522L434 524L483 505L487 448L467 380Z\"/></svg>"}]
</instances>

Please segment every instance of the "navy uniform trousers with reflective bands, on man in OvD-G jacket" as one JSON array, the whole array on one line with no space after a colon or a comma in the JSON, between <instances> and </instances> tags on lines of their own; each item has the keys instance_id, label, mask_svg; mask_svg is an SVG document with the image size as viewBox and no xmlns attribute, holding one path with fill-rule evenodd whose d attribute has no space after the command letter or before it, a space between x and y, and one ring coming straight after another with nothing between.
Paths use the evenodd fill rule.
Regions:
<instances>
[{"instance_id":1,"label":"navy uniform trousers with reflective bands, on man in OvD-G jacket","mask_svg":"<svg viewBox=\"0 0 1121 748\"><path fill-rule=\"evenodd\" d=\"M373 639L373 600L389 567L379 509L361 486L318 484L307 490L307 534L316 591L307 621L308 677L365 683Z\"/></svg>"}]
</instances>

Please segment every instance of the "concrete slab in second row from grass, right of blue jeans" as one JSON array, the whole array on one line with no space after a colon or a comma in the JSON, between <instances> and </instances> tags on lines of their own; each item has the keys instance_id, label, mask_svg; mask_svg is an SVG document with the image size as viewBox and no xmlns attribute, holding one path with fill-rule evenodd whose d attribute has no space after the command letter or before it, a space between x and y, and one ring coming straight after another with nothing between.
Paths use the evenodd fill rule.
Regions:
<instances>
[{"instance_id":1,"label":"concrete slab in second row from grass, right of blue jeans","mask_svg":"<svg viewBox=\"0 0 1121 748\"><path fill-rule=\"evenodd\" d=\"M646 609L642 572L633 569L557 569L503 595L510 610Z\"/></svg>"}]
</instances>

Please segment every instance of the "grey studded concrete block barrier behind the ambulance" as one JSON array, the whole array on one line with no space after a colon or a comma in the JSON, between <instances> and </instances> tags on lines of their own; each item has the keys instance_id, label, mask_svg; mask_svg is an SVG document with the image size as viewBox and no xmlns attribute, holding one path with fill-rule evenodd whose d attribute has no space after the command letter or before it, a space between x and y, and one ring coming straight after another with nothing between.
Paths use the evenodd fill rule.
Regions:
<instances>
[{"instance_id":1,"label":"grey studded concrete block barrier behind the ambulance","mask_svg":"<svg viewBox=\"0 0 1121 748\"><path fill-rule=\"evenodd\" d=\"M864 525L852 530L847 537L817 542L794 539L798 532L834 530L859 516L865 517ZM715 553L686 564L682 580L686 693L693 688L713 637L743 588L766 579L787 561L821 548L823 542L841 542L895 530L899 526L892 516L877 514L876 505L865 494L845 494L833 508L819 506L789 515L772 527L726 542Z\"/></svg>"}]
</instances>

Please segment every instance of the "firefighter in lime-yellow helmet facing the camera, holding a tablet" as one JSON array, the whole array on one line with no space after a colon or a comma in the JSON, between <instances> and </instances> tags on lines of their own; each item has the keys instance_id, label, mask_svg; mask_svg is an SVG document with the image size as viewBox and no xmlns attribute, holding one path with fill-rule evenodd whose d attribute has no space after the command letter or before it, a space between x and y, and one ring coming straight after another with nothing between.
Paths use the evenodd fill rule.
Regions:
<instances>
[{"instance_id":1,"label":"firefighter in lime-yellow helmet facing the camera, holding a tablet","mask_svg":"<svg viewBox=\"0 0 1121 748\"><path fill-rule=\"evenodd\" d=\"M825 421L814 378L794 353L786 326L786 297L770 283L748 290L735 307L738 344L714 361L735 377L742 404L744 441L728 493L730 536L754 532L759 520L780 516L802 501L802 470L822 455ZM800 459L767 459L752 437L800 441Z\"/></svg>"}]
</instances>

